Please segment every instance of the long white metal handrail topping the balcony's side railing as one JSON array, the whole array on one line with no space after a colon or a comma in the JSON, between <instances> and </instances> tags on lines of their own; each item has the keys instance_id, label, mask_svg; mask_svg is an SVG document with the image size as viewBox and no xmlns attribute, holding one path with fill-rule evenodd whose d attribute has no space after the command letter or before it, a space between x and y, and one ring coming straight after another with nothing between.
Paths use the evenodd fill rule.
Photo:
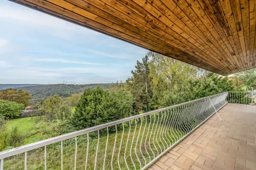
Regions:
<instances>
[{"instance_id":1,"label":"long white metal handrail topping the balcony's side railing","mask_svg":"<svg viewBox=\"0 0 256 170\"><path fill-rule=\"evenodd\" d=\"M170 107L165 107L165 108L157 109L155 111L146 112L144 114L131 116L131 117L128 117L128 118L116 120L116 121L105 123L105 124L101 124L101 125L98 125L98 126L89 127L87 129L75 131L75 132L72 132L72 133L68 133L68 134L64 134L64 135L59 135L57 137L53 137L53 138L49 138L49 139L44 139L43 141L38 141L38 142L30 143L28 145L23 145L23 146L20 146L20 147L17 147L17 148L5 150L3 152L0 152L0 160L3 159L3 158L14 156L16 154L28 152L29 150L38 149L38 148L41 148L43 146L50 145L50 144L53 144L53 143L56 143L56 142L61 142L61 141L64 141L66 139L69 139L69 138L77 137L77 136L80 136L80 135L91 133L93 131L104 129L106 127L114 126L116 124L128 122L129 120L138 119L138 118L142 118L142 117L147 116L147 115L155 114L157 112L165 111L166 109L179 107L181 105L189 104L189 103L192 103L192 102L195 102L195 101L198 101L198 100L209 99L210 97L222 95L224 93L228 93L228 92L222 92L222 93L218 93L216 95L203 97L201 99L195 99L195 100L187 101L185 103L172 105Z\"/></svg>"}]
</instances>

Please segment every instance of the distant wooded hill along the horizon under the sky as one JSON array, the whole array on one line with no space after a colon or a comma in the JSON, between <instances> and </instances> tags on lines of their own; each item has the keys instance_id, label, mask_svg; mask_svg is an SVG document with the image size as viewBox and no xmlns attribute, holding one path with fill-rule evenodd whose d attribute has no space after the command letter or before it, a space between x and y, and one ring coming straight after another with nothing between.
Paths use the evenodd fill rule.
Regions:
<instances>
[{"instance_id":1,"label":"distant wooded hill along the horizon under the sky","mask_svg":"<svg viewBox=\"0 0 256 170\"><path fill-rule=\"evenodd\" d=\"M84 85L50 84L50 85L20 85L20 86L5 85L5 89L15 88L15 89L22 89L22 90L28 91L32 97L32 100L40 101L42 99L47 99L48 97L53 95L58 95L61 97L69 97L73 94L84 92L84 90L88 88L97 88L97 86L99 86L103 89L108 89L108 88L112 88L115 85L116 84L84 84Z\"/></svg>"}]
</instances>

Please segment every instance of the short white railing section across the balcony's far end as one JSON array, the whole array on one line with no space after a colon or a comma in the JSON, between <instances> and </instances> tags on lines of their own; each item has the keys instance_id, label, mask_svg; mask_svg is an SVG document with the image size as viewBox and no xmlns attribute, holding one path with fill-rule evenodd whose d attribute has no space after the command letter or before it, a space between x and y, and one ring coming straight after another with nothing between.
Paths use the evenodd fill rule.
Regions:
<instances>
[{"instance_id":1,"label":"short white railing section across the balcony's far end","mask_svg":"<svg viewBox=\"0 0 256 170\"><path fill-rule=\"evenodd\" d=\"M255 92L228 92L228 103L254 104Z\"/></svg>"}]
</instances>

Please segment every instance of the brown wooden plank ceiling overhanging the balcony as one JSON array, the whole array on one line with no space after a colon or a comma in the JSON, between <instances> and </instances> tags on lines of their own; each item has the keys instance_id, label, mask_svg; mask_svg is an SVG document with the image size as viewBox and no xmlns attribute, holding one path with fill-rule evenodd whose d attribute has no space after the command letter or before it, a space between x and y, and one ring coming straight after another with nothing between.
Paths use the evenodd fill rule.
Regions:
<instances>
[{"instance_id":1,"label":"brown wooden plank ceiling overhanging the balcony","mask_svg":"<svg viewBox=\"0 0 256 170\"><path fill-rule=\"evenodd\" d=\"M256 0L11 0L228 75L256 67Z\"/></svg>"}]
</instances>

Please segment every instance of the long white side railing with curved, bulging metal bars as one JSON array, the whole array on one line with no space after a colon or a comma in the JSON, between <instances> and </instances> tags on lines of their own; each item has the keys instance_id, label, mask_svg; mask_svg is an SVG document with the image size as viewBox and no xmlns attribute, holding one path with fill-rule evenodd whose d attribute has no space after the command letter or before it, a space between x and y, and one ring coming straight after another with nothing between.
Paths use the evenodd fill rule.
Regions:
<instances>
[{"instance_id":1,"label":"long white side railing with curved, bulging metal bars","mask_svg":"<svg viewBox=\"0 0 256 170\"><path fill-rule=\"evenodd\" d=\"M228 92L0 153L0 169L146 169L227 104Z\"/></svg>"}]
</instances>

